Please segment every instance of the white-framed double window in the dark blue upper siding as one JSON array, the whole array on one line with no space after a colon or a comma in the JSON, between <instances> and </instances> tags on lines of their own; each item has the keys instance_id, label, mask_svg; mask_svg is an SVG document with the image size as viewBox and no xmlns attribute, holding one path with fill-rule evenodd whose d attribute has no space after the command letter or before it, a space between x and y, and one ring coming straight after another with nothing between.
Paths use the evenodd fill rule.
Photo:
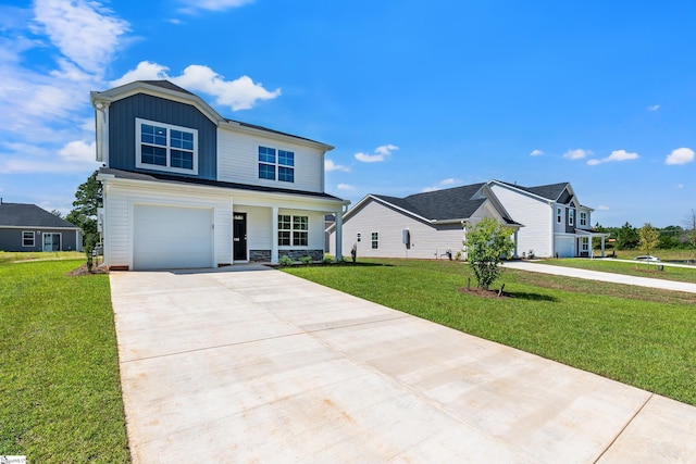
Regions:
<instances>
[{"instance_id":1,"label":"white-framed double window in the dark blue upper siding","mask_svg":"<svg viewBox=\"0 0 696 464\"><path fill-rule=\"evenodd\" d=\"M198 130L135 120L136 167L198 174Z\"/></svg>"}]
</instances>

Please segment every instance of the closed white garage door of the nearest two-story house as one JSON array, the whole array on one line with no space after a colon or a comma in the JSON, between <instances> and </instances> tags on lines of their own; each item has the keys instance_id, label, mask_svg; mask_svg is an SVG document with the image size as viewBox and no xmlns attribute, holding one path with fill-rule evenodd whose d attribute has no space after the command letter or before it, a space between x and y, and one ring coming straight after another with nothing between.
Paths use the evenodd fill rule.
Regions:
<instances>
[{"instance_id":1,"label":"closed white garage door of the nearest two-story house","mask_svg":"<svg viewBox=\"0 0 696 464\"><path fill-rule=\"evenodd\" d=\"M212 267L212 209L135 205L133 267Z\"/></svg>"}]
</instances>

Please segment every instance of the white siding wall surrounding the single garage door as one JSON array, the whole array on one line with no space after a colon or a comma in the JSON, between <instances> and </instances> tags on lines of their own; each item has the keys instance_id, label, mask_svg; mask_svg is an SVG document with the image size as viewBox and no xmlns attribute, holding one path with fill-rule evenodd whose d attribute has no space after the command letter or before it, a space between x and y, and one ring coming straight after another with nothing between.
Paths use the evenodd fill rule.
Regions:
<instances>
[{"instance_id":1,"label":"white siding wall surrounding the single garage door","mask_svg":"<svg viewBox=\"0 0 696 464\"><path fill-rule=\"evenodd\" d=\"M232 262L232 197L212 190L158 185L153 191L148 185L108 183L104 192L104 208L109 211L104 220L104 260L108 266L133 268L133 233L136 204L163 206L190 206L213 209L214 263Z\"/></svg>"}]
</instances>

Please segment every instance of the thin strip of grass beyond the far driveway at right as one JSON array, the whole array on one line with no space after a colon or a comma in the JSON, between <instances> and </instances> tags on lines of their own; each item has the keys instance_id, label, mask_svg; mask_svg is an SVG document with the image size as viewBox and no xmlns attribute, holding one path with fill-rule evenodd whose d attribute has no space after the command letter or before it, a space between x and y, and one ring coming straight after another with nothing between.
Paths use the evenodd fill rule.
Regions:
<instances>
[{"instance_id":1,"label":"thin strip of grass beyond the far driveway at right","mask_svg":"<svg viewBox=\"0 0 696 464\"><path fill-rule=\"evenodd\" d=\"M624 274L637 277L660 278L664 280L678 280L686 283L696 283L696 266L676 267L663 266L662 271L658 271L660 263L649 263L642 261L625 263L612 260L587 260L586 258L564 258L560 260L544 260L543 264L552 264L563 267L577 267L589 271L601 271L606 273Z\"/></svg>"}]
</instances>

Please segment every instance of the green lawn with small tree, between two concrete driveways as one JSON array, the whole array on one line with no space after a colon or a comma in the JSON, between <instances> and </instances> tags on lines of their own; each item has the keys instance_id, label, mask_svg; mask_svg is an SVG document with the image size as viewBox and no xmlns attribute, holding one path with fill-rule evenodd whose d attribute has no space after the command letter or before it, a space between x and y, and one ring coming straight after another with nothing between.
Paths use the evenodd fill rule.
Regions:
<instances>
[{"instance_id":1,"label":"green lawn with small tree, between two concrete driveways","mask_svg":"<svg viewBox=\"0 0 696 464\"><path fill-rule=\"evenodd\" d=\"M487 299L462 263L361 261L283 271L696 405L696 294L508 269L513 298Z\"/></svg>"}]
</instances>

